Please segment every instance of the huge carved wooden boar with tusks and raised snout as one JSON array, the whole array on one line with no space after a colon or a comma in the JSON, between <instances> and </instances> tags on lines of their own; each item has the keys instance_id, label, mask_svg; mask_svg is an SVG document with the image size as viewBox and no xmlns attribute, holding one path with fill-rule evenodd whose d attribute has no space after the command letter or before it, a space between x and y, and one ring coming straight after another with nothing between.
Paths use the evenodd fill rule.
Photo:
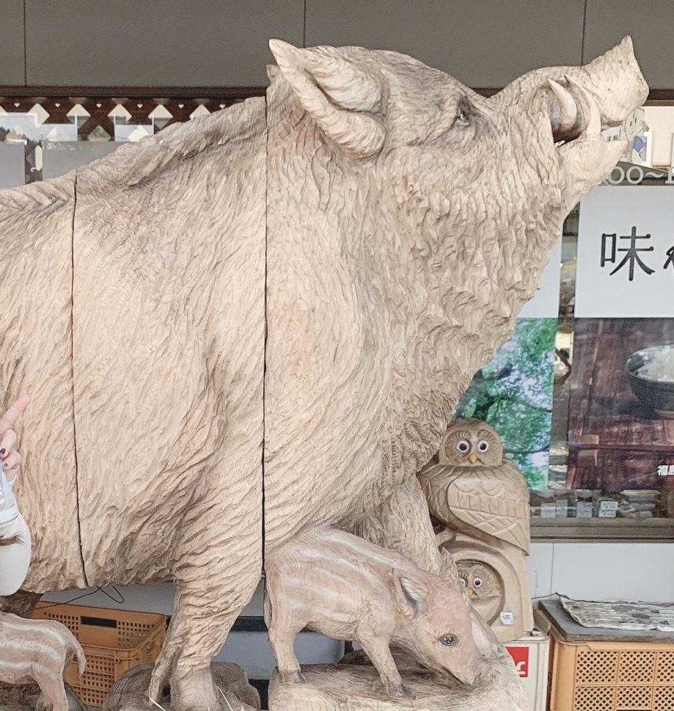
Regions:
<instances>
[{"instance_id":1,"label":"huge carved wooden boar with tusks and raised snout","mask_svg":"<svg viewBox=\"0 0 674 711\"><path fill-rule=\"evenodd\" d=\"M266 99L0 193L26 587L174 579L151 690L178 708L217 707L263 549L407 520L437 565L414 473L647 93L628 38L489 99L393 52L272 50Z\"/></svg>"}]
</instances>

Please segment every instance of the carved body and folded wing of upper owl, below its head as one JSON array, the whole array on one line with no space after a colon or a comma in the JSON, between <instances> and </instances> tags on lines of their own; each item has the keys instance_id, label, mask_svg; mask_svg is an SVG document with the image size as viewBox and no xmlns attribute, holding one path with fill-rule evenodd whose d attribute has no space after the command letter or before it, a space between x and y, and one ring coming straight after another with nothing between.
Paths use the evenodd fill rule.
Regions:
<instances>
[{"instance_id":1,"label":"carved body and folded wing of upper owl, below its head","mask_svg":"<svg viewBox=\"0 0 674 711\"><path fill-rule=\"evenodd\" d=\"M438 518L454 519L459 530L459 522L466 523L528 554L529 490L508 459L493 467L435 465L420 479Z\"/></svg>"}]
</instances>

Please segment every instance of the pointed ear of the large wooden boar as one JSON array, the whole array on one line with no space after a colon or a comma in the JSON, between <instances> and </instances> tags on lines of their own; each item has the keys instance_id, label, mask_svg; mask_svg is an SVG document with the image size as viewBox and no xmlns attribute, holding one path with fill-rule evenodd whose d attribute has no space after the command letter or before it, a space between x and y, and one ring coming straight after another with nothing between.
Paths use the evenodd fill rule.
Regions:
<instances>
[{"instance_id":1,"label":"pointed ear of the large wooden boar","mask_svg":"<svg viewBox=\"0 0 674 711\"><path fill-rule=\"evenodd\" d=\"M269 40L269 48L301 105L344 154L365 161L381 151L385 129L378 117L382 85L377 77L334 47L299 49Z\"/></svg>"}]
</instances>

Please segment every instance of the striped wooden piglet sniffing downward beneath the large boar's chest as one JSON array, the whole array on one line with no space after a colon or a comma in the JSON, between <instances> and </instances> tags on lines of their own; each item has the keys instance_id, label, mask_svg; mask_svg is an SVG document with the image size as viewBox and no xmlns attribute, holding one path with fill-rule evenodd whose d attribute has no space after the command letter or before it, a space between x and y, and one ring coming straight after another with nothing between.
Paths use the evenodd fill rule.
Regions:
<instances>
[{"instance_id":1,"label":"striped wooden piglet sniffing downward beneath the large boar's chest","mask_svg":"<svg viewBox=\"0 0 674 711\"><path fill-rule=\"evenodd\" d=\"M305 626L360 643L394 696L410 693L390 643L467 684L484 668L458 581L424 572L397 552L319 527L274 552L266 568L265 618L284 681L301 680L293 642Z\"/></svg>"}]
</instances>

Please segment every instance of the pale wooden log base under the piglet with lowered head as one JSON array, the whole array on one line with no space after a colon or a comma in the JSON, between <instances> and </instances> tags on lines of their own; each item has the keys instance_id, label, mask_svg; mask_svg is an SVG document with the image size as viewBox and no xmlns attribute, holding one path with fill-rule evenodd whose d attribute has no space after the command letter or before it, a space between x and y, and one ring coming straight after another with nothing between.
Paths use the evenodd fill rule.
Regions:
<instances>
[{"instance_id":1,"label":"pale wooden log base under the piglet with lowered head","mask_svg":"<svg viewBox=\"0 0 674 711\"><path fill-rule=\"evenodd\" d=\"M387 697L373 667L335 664L302 666L304 683L269 682L269 711L525 711L495 680L473 687L439 683L421 670L400 670L413 699Z\"/></svg>"}]
</instances>

